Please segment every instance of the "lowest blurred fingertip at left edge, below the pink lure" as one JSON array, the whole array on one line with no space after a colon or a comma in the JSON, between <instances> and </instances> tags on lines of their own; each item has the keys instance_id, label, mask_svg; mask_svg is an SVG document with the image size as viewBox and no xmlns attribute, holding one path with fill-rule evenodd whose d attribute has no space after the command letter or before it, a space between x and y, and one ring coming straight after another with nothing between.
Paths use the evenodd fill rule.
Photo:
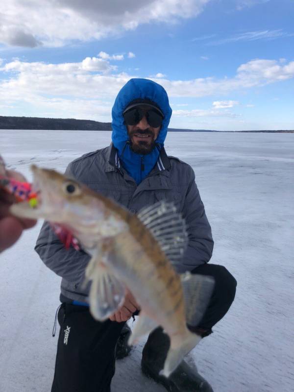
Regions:
<instances>
[{"instance_id":1,"label":"lowest blurred fingertip at left edge, below the pink lure","mask_svg":"<svg viewBox=\"0 0 294 392\"><path fill-rule=\"evenodd\" d=\"M13 245L23 232L22 223L14 217L0 220L0 252Z\"/></svg>"}]
</instances>

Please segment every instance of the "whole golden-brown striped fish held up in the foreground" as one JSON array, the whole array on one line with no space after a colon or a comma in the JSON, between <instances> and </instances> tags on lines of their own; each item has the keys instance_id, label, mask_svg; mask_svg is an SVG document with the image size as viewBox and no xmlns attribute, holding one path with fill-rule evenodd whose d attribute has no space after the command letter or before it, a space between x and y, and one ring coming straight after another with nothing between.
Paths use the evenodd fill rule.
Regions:
<instances>
[{"instance_id":1,"label":"whole golden-brown striped fish held up in the foreground","mask_svg":"<svg viewBox=\"0 0 294 392\"><path fill-rule=\"evenodd\" d=\"M90 311L105 320L123 304L128 288L141 307L129 344L161 325L171 339L161 374L168 377L201 337L196 326L208 304L213 279L183 276L174 266L187 245L184 220L172 203L159 202L132 215L115 201L48 169L31 167L38 204L12 206L19 217L44 218L70 230L92 258Z\"/></svg>"}]
</instances>

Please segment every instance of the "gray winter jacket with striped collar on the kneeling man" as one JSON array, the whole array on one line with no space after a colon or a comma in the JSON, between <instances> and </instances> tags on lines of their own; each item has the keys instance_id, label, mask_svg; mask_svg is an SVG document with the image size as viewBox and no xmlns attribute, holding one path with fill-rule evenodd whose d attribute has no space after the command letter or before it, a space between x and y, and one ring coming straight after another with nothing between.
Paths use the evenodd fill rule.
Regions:
<instances>
[{"instance_id":1,"label":"gray winter jacket with striped collar on the kneeling man","mask_svg":"<svg viewBox=\"0 0 294 392\"><path fill-rule=\"evenodd\" d=\"M159 200L172 201L185 218L189 235L178 272L193 270L210 260L213 239L194 171L179 159L168 157L164 148L157 165L139 185L123 170L113 145L75 159L66 174L113 198L134 214ZM81 286L90 259L88 254L73 247L65 249L47 222L41 229L35 250L46 266L62 277L61 294L85 302L89 286Z\"/></svg>"}]
</instances>

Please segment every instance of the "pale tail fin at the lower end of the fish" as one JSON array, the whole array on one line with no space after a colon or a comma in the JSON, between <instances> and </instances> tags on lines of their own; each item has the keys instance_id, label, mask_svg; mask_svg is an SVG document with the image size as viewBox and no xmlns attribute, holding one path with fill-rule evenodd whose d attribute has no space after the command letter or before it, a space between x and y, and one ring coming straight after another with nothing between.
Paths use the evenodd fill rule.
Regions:
<instances>
[{"instance_id":1,"label":"pale tail fin at the lower end of the fish","mask_svg":"<svg viewBox=\"0 0 294 392\"><path fill-rule=\"evenodd\" d=\"M188 354L201 340L201 336L191 333L187 329L186 338L184 340L179 337L172 337L171 347L169 349L164 368L160 371L160 375L169 377L170 374L181 363L182 359Z\"/></svg>"}]
</instances>

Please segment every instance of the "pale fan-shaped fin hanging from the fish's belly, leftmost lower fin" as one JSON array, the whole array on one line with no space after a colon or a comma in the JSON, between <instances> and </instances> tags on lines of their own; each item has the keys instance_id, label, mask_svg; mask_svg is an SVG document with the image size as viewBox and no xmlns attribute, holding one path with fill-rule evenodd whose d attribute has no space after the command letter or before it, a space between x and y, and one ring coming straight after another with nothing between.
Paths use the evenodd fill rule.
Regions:
<instances>
[{"instance_id":1,"label":"pale fan-shaped fin hanging from the fish's belly, leftmost lower fin","mask_svg":"<svg viewBox=\"0 0 294 392\"><path fill-rule=\"evenodd\" d=\"M94 319L106 320L123 305L125 287L103 263L97 263L90 279L93 280L89 294L90 312Z\"/></svg>"}]
</instances>

